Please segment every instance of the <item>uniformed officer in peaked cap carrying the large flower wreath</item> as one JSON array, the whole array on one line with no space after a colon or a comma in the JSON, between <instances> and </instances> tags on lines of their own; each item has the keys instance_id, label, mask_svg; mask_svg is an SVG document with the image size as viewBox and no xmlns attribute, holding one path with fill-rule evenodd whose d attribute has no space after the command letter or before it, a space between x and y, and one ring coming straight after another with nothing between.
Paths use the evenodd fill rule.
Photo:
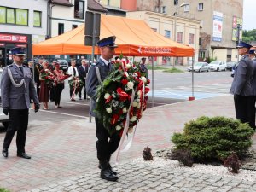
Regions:
<instances>
[{"instance_id":1,"label":"uniformed officer in peaked cap carrying the large flower wreath","mask_svg":"<svg viewBox=\"0 0 256 192\"><path fill-rule=\"evenodd\" d=\"M88 96L92 99L91 115L96 116L93 113L96 107L96 86L101 84L104 79L107 78L111 72L111 62L113 55L115 54L114 48L117 47L115 44L115 36L103 38L97 43L101 57L90 66L88 77L86 79L86 91ZM98 69L98 70L97 70ZM99 73L97 73L97 71ZM118 148L120 137L118 134L109 135L107 129L102 125L100 119L96 116L96 149L97 158L100 161L99 168L101 168L101 178L108 181L116 181L118 179L117 173L113 171L109 164L111 154Z\"/></svg>"}]
</instances>

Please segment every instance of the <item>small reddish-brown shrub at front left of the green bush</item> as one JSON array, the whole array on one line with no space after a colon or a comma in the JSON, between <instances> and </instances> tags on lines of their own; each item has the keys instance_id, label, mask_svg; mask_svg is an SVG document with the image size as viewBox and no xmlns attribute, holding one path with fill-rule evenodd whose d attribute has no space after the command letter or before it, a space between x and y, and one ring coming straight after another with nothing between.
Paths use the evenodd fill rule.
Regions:
<instances>
[{"instance_id":1,"label":"small reddish-brown shrub at front left of the green bush","mask_svg":"<svg viewBox=\"0 0 256 192\"><path fill-rule=\"evenodd\" d=\"M171 160L178 160L182 162L184 166L193 166L193 157L191 151L186 148L174 148L172 154L169 156Z\"/></svg>"}]
</instances>

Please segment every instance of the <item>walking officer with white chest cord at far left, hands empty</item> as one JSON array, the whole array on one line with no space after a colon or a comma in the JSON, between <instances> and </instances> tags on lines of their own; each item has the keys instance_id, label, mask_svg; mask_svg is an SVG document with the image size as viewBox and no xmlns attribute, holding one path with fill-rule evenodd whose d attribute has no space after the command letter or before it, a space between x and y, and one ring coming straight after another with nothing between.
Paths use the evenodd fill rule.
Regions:
<instances>
[{"instance_id":1,"label":"walking officer with white chest cord at far left, hands empty","mask_svg":"<svg viewBox=\"0 0 256 192\"><path fill-rule=\"evenodd\" d=\"M11 49L14 63L4 67L1 79L1 95L3 113L9 114L9 128L3 141L2 154L8 157L10 143L16 136L17 156L25 159L31 157L26 154L26 130L28 113L30 108L30 96L35 104L35 112L38 112L40 104L34 87L32 73L29 67L23 65L25 53L22 48Z\"/></svg>"}]
</instances>

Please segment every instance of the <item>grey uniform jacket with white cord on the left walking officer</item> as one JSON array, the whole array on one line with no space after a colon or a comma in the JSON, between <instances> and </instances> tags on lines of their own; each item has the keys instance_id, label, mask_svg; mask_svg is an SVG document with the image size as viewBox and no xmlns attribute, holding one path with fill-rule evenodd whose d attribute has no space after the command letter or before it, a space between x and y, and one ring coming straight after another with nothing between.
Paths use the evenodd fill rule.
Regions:
<instances>
[{"instance_id":1,"label":"grey uniform jacket with white cord on the left walking officer","mask_svg":"<svg viewBox=\"0 0 256 192\"><path fill-rule=\"evenodd\" d=\"M9 79L8 68L12 73L16 84L24 79L24 84L16 87ZM28 109L30 108L30 96L34 103L39 103L36 89L34 87L32 73L29 67L23 66L23 73L15 63L4 67L1 79L1 96L3 108Z\"/></svg>"}]
</instances>

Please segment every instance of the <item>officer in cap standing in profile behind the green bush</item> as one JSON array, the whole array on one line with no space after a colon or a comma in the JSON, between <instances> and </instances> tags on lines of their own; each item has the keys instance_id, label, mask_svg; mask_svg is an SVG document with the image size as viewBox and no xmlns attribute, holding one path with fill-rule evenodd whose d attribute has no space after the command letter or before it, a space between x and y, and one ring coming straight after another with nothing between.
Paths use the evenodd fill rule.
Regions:
<instances>
[{"instance_id":1,"label":"officer in cap standing in profile behind the green bush","mask_svg":"<svg viewBox=\"0 0 256 192\"><path fill-rule=\"evenodd\" d=\"M234 95L236 119L248 123L255 129L255 106L251 81L253 79L253 61L249 58L252 45L240 42L237 45L241 60L236 65L230 93Z\"/></svg>"}]
</instances>

